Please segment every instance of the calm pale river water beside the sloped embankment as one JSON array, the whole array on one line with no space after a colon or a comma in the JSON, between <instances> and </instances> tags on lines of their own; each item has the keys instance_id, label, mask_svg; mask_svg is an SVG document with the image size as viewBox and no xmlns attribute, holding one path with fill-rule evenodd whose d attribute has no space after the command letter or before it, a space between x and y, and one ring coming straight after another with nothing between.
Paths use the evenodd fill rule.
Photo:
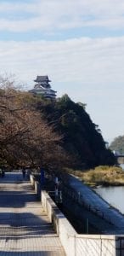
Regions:
<instances>
[{"instance_id":1,"label":"calm pale river water beside the sloped embankment","mask_svg":"<svg viewBox=\"0 0 124 256\"><path fill-rule=\"evenodd\" d=\"M121 165L124 170L124 165ZM124 186L120 187L99 187L94 189L111 206L116 207L124 213Z\"/></svg>"}]
</instances>

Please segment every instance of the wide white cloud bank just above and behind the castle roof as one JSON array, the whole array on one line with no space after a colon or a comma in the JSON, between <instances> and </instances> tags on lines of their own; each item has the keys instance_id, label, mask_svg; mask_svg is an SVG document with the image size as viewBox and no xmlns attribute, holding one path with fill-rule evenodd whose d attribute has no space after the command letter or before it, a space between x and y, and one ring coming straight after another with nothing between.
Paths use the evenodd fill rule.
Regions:
<instances>
[{"instance_id":1,"label":"wide white cloud bank just above and behind the castle roof","mask_svg":"<svg viewBox=\"0 0 124 256\"><path fill-rule=\"evenodd\" d=\"M0 42L1 71L26 80L49 73L56 81L82 84L124 81L124 37L60 42Z\"/></svg>"}]
</instances>

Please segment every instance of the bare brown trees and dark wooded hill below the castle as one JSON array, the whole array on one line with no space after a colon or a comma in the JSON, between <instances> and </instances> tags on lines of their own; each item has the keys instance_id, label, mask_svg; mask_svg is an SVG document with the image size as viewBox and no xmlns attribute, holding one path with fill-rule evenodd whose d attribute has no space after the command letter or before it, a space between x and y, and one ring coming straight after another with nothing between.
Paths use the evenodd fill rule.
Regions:
<instances>
[{"instance_id":1,"label":"bare brown trees and dark wooded hill below the castle","mask_svg":"<svg viewBox=\"0 0 124 256\"><path fill-rule=\"evenodd\" d=\"M8 86L0 89L0 166L59 170L116 163L82 103L67 95L52 102L14 90L8 80L2 84Z\"/></svg>"}]
</instances>

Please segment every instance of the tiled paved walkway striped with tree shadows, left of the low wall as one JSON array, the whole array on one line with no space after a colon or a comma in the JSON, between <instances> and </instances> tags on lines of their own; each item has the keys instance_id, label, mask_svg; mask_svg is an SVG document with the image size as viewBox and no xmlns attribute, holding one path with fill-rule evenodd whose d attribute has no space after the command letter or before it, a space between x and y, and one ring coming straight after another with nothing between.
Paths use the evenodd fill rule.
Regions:
<instances>
[{"instance_id":1,"label":"tiled paved walkway striped with tree shadows, left of the low wall","mask_svg":"<svg viewBox=\"0 0 124 256\"><path fill-rule=\"evenodd\" d=\"M64 256L52 224L21 173L0 178L0 255Z\"/></svg>"}]
</instances>

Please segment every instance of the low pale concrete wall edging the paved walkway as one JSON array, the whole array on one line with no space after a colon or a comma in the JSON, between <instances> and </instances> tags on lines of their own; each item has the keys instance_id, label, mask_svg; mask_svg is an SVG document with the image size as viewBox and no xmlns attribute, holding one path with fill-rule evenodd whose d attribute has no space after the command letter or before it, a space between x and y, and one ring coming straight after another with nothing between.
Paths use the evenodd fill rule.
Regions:
<instances>
[{"instance_id":1,"label":"low pale concrete wall edging the paved walkway","mask_svg":"<svg viewBox=\"0 0 124 256\"><path fill-rule=\"evenodd\" d=\"M124 236L79 235L45 191L41 198L42 207L54 224L67 256L124 255Z\"/></svg>"}]
</instances>

